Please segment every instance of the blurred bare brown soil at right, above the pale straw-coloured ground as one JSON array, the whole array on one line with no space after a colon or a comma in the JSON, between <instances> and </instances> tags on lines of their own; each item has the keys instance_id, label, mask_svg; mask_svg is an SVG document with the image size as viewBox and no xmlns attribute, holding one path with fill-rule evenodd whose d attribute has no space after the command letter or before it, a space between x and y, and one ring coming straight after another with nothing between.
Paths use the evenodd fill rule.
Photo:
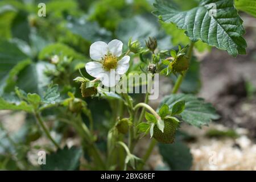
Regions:
<instances>
[{"instance_id":1,"label":"blurred bare brown soil at right, above the pale straw-coloured ground","mask_svg":"<svg viewBox=\"0 0 256 182\"><path fill-rule=\"evenodd\" d=\"M213 49L201 63L203 86L199 96L210 101L221 115L224 126L249 130L251 139L256 139L256 98L249 97L247 84L256 86L256 44L253 31L246 34L246 56L230 57L223 51Z\"/></svg>"}]
</instances>

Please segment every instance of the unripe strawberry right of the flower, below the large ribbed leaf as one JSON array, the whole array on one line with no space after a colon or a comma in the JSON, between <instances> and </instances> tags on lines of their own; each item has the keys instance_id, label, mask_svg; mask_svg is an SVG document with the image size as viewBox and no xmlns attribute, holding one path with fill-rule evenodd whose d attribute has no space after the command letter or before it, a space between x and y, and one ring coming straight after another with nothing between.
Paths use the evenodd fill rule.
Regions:
<instances>
[{"instance_id":1,"label":"unripe strawberry right of the flower, below the large ribbed leaf","mask_svg":"<svg viewBox=\"0 0 256 182\"><path fill-rule=\"evenodd\" d=\"M189 67L188 57L185 55L176 57L176 59L171 62L171 70L174 73L180 73L180 72L186 71L188 67Z\"/></svg>"}]
</instances>

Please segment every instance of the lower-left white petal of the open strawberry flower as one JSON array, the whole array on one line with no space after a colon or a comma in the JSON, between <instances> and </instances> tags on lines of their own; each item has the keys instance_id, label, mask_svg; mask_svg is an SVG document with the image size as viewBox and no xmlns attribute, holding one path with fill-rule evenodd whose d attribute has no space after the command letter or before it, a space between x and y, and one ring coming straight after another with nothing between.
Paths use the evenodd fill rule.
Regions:
<instances>
[{"instance_id":1,"label":"lower-left white petal of the open strawberry flower","mask_svg":"<svg viewBox=\"0 0 256 182\"><path fill-rule=\"evenodd\" d=\"M90 76L96 78L101 78L102 74L105 72L102 68L102 64L95 61L90 61L89 63L86 63L85 69Z\"/></svg>"}]
</instances>

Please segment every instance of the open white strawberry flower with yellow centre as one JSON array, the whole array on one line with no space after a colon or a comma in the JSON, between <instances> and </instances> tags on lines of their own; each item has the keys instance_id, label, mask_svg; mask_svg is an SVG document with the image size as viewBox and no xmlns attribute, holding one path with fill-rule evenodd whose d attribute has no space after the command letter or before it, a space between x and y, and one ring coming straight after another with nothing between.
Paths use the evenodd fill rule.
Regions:
<instances>
[{"instance_id":1,"label":"open white strawberry flower with yellow centre","mask_svg":"<svg viewBox=\"0 0 256 182\"><path fill-rule=\"evenodd\" d=\"M90 58L94 61L86 63L89 75L99 78L104 86L115 86L129 69L130 56L122 55L123 43L120 40L94 42L90 46Z\"/></svg>"}]
</instances>

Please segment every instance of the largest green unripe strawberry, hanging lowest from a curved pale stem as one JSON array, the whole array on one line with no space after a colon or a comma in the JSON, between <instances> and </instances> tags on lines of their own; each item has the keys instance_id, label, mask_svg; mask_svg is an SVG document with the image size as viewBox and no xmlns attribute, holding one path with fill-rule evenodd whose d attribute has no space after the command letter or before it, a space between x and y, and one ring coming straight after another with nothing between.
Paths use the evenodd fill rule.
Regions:
<instances>
[{"instance_id":1,"label":"largest green unripe strawberry, hanging lowest from a curved pale stem","mask_svg":"<svg viewBox=\"0 0 256 182\"><path fill-rule=\"evenodd\" d=\"M179 123L174 119L164 119L164 132L154 126L153 137L160 143L174 143L176 129Z\"/></svg>"}]
</instances>

